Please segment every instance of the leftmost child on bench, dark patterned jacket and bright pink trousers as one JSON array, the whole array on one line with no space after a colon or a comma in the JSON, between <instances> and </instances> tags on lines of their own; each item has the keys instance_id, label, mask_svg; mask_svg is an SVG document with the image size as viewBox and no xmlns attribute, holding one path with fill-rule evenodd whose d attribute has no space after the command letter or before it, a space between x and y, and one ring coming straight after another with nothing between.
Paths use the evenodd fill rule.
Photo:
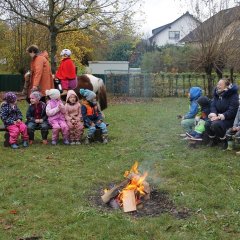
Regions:
<instances>
[{"instance_id":1,"label":"leftmost child on bench, dark patterned jacket and bright pink trousers","mask_svg":"<svg viewBox=\"0 0 240 240\"><path fill-rule=\"evenodd\" d=\"M19 148L17 142L21 134L23 140L23 147L28 147L28 133L27 126L22 122L22 113L17 106L17 96L8 92L4 95L4 102L1 104L0 116L4 126L7 128L10 138L9 143L11 148Z\"/></svg>"}]
</instances>

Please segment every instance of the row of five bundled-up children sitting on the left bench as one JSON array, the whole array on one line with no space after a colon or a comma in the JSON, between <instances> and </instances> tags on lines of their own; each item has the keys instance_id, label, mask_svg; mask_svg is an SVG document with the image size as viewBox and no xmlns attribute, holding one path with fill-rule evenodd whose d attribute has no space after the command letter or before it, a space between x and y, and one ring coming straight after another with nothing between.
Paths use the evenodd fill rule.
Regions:
<instances>
[{"instance_id":1,"label":"row of five bundled-up children sitting on the left bench","mask_svg":"<svg viewBox=\"0 0 240 240\"><path fill-rule=\"evenodd\" d=\"M81 144L84 127L88 128L86 144L94 137L96 129L101 129L102 142L108 142L107 125L96 102L96 94L88 89L80 89L83 97L80 103L73 90L67 92L66 103L61 100L60 91L46 91L47 103L40 101L41 93L34 91L30 95L30 105L27 109L26 123L17 106L17 96L8 92L1 103L0 117L9 132L9 143L13 149L19 148L18 137L21 135L23 147L34 142L35 130L41 131L42 143L48 144L49 129L52 129L52 145L56 145L59 134L62 133L65 145Z\"/></svg>"}]
</instances>

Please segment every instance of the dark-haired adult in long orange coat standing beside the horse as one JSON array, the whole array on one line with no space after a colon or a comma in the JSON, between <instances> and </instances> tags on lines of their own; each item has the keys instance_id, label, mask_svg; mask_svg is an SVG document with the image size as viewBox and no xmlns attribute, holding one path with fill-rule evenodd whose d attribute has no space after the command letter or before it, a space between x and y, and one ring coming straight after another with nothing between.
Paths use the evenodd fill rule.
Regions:
<instances>
[{"instance_id":1,"label":"dark-haired adult in long orange coat standing beside the horse","mask_svg":"<svg viewBox=\"0 0 240 240\"><path fill-rule=\"evenodd\" d=\"M33 91L39 91L42 94L40 101L45 102L46 90L54 88L48 53L40 52L36 45L29 46L27 52L32 58L28 99Z\"/></svg>"}]
</instances>

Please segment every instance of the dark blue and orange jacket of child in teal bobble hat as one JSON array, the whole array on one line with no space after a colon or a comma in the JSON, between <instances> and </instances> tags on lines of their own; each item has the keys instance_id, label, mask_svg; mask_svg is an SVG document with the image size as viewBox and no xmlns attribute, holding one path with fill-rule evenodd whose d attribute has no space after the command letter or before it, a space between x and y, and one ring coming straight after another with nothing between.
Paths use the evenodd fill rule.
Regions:
<instances>
[{"instance_id":1,"label":"dark blue and orange jacket of child in teal bobble hat","mask_svg":"<svg viewBox=\"0 0 240 240\"><path fill-rule=\"evenodd\" d=\"M81 107L83 122L86 127L90 127L91 123L96 123L99 120L102 120L102 113L100 112L97 104L88 102L87 100L82 101Z\"/></svg>"}]
</instances>

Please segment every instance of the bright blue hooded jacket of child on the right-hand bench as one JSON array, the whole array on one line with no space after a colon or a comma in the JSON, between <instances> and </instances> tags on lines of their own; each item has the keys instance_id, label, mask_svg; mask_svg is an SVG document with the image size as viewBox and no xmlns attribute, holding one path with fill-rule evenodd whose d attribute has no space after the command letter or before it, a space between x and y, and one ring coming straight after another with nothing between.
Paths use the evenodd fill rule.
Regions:
<instances>
[{"instance_id":1,"label":"bright blue hooded jacket of child on the right-hand bench","mask_svg":"<svg viewBox=\"0 0 240 240\"><path fill-rule=\"evenodd\" d=\"M184 115L184 119L195 118L200 107L197 103L197 99L202 95L202 89L200 87L192 87L189 91L189 112Z\"/></svg>"}]
</instances>

